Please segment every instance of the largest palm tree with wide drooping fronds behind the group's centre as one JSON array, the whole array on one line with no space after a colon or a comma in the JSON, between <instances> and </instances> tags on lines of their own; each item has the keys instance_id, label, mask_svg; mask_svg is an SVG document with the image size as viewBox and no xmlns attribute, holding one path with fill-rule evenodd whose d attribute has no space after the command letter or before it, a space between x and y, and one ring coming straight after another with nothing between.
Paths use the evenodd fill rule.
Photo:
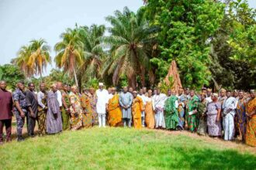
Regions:
<instances>
[{"instance_id":1,"label":"largest palm tree with wide drooping fronds behind the group's centre","mask_svg":"<svg viewBox=\"0 0 256 170\"><path fill-rule=\"evenodd\" d=\"M111 36L102 37L102 42L110 46L111 55L106 59L102 73L113 73L114 85L121 75L126 74L129 86L133 88L138 75L144 86L145 73L150 71L152 51L147 45L154 39L144 17L144 8L134 13L125 7L123 13L116 11L115 16L108 16L106 20L112 25L109 28Z\"/></svg>"}]
</instances>

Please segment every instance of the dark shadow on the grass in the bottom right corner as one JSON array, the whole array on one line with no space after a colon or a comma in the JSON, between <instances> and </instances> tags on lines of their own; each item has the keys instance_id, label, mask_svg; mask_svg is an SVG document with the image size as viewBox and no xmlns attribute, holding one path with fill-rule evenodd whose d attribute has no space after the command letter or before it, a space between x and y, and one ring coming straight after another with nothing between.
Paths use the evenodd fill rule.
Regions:
<instances>
[{"instance_id":1,"label":"dark shadow on the grass in the bottom right corner","mask_svg":"<svg viewBox=\"0 0 256 170\"><path fill-rule=\"evenodd\" d=\"M234 150L213 150L209 148L174 148L178 155L183 155L170 168L182 167L187 162L187 168L199 169L256 169L256 156L240 154Z\"/></svg>"}]
</instances>

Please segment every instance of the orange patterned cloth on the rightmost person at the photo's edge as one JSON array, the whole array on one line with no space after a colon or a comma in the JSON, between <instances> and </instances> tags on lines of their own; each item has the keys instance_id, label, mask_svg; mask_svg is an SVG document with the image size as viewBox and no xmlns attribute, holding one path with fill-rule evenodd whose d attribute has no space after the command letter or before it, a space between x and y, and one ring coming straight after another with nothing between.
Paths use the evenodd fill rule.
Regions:
<instances>
[{"instance_id":1,"label":"orange patterned cloth on the rightmost person at the photo's edge","mask_svg":"<svg viewBox=\"0 0 256 170\"><path fill-rule=\"evenodd\" d=\"M251 114L254 112L252 117L247 117L247 127L245 134L245 143L247 145L251 145L256 147L256 97L254 99L250 99L247 103L246 111L247 114Z\"/></svg>"}]
</instances>

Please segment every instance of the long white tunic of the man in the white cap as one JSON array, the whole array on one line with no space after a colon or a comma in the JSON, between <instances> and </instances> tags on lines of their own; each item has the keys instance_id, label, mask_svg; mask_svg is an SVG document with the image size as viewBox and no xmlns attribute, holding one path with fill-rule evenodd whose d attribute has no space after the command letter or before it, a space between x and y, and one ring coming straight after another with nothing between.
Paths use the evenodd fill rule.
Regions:
<instances>
[{"instance_id":1,"label":"long white tunic of the man in the white cap","mask_svg":"<svg viewBox=\"0 0 256 170\"><path fill-rule=\"evenodd\" d=\"M96 111L98 114L106 114L106 104L109 102L109 92L106 89L96 90L97 104Z\"/></svg>"}]
</instances>

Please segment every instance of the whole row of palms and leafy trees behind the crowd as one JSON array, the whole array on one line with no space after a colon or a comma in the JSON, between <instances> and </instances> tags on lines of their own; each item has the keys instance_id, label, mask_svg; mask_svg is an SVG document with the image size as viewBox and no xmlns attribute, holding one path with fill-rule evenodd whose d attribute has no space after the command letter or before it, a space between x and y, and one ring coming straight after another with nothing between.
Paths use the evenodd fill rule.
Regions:
<instances>
[{"instance_id":1,"label":"whole row of palms and leafy trees behind the crowd","mask_svg":"<svg viewBox=\"0 0 256 170\"><path fill-rule=\"evenodd\" d=\"M106 17L109 28L66 29L54 46L54 61L80 88L96 79L107 86L155 87L175 60L183 87L254 89L255 9L247 1L224 2L147 0L137 12L125 7ZM39 39L22 46L12 63L27 77L41 75L48 54Z\"/></svg>"}]
</instances>

